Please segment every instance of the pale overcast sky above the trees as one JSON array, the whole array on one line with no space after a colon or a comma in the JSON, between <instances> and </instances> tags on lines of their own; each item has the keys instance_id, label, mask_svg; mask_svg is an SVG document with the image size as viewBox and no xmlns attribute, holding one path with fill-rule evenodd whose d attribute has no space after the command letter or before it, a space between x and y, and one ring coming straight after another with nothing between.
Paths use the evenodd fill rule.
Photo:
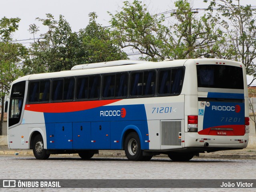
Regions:
<instances>
[{"instance_id":1,"label":"pale overcast sky above the trees","mask_svg":"<svg viewBox=\"0 0 256 192\"><path fill-rule=\"evenodd\" d=\"M133 0L128 0L132 2ZM208 4L203 0L189 0L193 8L207 8ZM58 20L61 14L70 24L73 32L78 32L81 28L88 25L90 12L96 12L98 15L97 22L102 26L109 26L110 16L108 12L114 14L123 6L123 0L0 0L0 18L19 17L18 31L13 34L15 40L25 40L33 38L29 33L30 24L37 24L36 18L46 18L46 14L50 13ZM158 14L174 9L175 0L142 0L148 6L151 14ZM242 5L251 4L256 6L256 0L240 0ZM199 12L198 16L204 14ZM36 38L40 37L41 33L46 32L44 26L40 26ZM20 41L25 46L28 46L31 40ZM125 50L132 52L131 50ZM256 83L255 83L256 84Z\"/></svg>"}]
</instances>

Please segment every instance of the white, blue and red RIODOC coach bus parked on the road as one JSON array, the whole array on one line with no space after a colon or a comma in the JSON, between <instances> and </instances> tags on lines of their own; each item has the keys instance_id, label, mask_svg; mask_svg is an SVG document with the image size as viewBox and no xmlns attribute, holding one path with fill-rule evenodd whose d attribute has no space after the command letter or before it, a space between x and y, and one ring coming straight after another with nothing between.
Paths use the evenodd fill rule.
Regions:
<instances>
[{"instance_id":1,"label":"white, blue and red RIODOC coach bus parked on the road","mask_svg":"<svg viewBox=\"0 0 256 192\"><path fill-rule=\"evenodd\" d=\"M125 150L129 160L246 148L246 70L222 59L120 60L12 83L8 146L37 159Z\"/></svg>"}]
</instances>

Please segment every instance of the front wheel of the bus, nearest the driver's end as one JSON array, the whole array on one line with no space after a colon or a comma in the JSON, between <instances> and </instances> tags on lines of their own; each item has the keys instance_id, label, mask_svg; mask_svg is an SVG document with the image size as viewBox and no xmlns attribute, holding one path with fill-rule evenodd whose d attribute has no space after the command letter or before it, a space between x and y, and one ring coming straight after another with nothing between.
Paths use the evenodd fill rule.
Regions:
<instances>
[{"instance_id":1,"label":"front wheel of the bus, nearest the driver's end","mask_svg":"<svg viewBox=\"0 0 256 192\"><path fill-rule=\"evenodd\" d=\"M36 135L33 141L33 153L36 159L46 160L49 158L50 154L46 154L46 149L44 149L44 140L42 135Z\"/></svg>"}]
</instances>

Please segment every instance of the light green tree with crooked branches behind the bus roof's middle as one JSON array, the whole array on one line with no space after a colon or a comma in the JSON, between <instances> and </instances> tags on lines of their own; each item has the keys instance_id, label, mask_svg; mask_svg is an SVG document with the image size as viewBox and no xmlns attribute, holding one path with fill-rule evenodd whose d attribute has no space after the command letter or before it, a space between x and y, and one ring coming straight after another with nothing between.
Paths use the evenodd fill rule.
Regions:
<instances>
[{"instance_id":1,"label":"light green tree with crooked branches behind the bus roof's middle","mask_svg":"<svg viewBox=\"0 0 256 192\"><path fill-rule=\"evenodd\" d=\"M163 60L165 33L168 29L161 24L156 16L151 16L146 5L138 0L132 3L125 1L122 11L112 16L110 21L113 30L111 35L114 43L122 48L131 46L146 60Z\"/></svg>"}]
</instances>

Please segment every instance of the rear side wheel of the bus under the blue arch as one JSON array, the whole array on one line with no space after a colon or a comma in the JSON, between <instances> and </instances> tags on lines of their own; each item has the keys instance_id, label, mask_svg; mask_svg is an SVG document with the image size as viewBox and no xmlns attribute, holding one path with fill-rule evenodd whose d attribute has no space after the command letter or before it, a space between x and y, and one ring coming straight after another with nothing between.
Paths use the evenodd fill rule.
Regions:
<instances>
[{"instance_id":1,"label":"rear side wheel of the bus under the blue arch","mask_svg":"<svg viewBox=\"0 0 256 192\"><path fill-rule=\"evenodd\" d=\"M140 138L137 133L131 132L125 139L124 142L124 151L126 157L130 161L142 161L143 160L143 151L140 147ZM145 156L146 158L147 156ZM150 158L151 159L151 158Z\"/></svg>"}]
</instances>

